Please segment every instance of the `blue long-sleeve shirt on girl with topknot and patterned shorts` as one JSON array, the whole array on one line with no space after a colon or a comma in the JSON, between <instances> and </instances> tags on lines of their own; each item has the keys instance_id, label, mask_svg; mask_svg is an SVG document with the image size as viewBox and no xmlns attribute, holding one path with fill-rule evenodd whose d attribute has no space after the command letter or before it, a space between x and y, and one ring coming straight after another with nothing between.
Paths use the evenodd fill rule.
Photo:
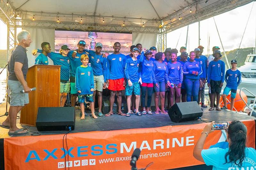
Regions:
<instances>
[{"instance_id":1,"label":"blue long-sleeve shirt on girl with topknot and patterned shorts","mask_svg":"<svg viewBox=\"0 0 256 170\"><path fill-rule=\"evenodd\" d=\"M182 71L181 63L176 62L174 64L174 63L168 62L167 70L168 70L168 78L170 80L170 83L173 83L175 85L182 83L183 71Z\"/></svg>"}]
</instances>

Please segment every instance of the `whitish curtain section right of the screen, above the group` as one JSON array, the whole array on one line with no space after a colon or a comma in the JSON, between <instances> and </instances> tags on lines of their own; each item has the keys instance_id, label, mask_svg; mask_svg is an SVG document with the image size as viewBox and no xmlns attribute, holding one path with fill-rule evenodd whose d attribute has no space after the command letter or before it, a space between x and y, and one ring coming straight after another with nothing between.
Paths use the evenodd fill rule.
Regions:
<instances>
[{"instance_id":1,"label":"whitish curtain section right of the screen, above the group","mask_svg":"<svg viewBox=\"0 0 256 170\"><path fill-rule=\"evenodd\" d=\"M156 46L157 34L153 33L132 33L132 45L142 44L143 48L149 49Z\"/></svg>"}]
</instances>

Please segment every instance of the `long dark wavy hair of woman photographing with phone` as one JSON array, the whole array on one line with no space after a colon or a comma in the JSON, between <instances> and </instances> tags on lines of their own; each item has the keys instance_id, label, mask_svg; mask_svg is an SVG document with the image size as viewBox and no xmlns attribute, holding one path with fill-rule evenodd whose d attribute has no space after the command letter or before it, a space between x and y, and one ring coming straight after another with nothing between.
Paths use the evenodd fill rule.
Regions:
<instances>
[{"instance_id":1,"label":"long dark wavy hair of woman photographing with phone","mask_svg":"<svg viewBox=\"0 0 256 170\"><path fill-rule=\"evenodd\" d=\"M245 143L246 143L247 128L240 121L232 121L228 126L228 137L231 141L228 152L225 154L225 164L234 162L241 167L245 158ZM227 157L229 156L229 161ZM237 160L239 161L237 163Z\"/></svg>"}]
</instances>

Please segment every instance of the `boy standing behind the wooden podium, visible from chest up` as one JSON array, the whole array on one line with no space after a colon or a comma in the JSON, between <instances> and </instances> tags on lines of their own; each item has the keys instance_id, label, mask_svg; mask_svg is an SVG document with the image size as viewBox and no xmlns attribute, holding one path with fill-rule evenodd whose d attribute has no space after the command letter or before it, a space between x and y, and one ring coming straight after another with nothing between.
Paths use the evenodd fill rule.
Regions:
<instances>
[{"instance_id":1,"label":"boy standing behind the wooden podium, visible from chest up","mask_svg":"<svg viewBox=\"0 0 256 170\"><path fill-rule=\"evenodd\" d=\"M35 64L48 65L47 53L51 52L51 46L49 42L43 42L41 44L43 52L36 57Z\"/></svg>"}]
</instances>

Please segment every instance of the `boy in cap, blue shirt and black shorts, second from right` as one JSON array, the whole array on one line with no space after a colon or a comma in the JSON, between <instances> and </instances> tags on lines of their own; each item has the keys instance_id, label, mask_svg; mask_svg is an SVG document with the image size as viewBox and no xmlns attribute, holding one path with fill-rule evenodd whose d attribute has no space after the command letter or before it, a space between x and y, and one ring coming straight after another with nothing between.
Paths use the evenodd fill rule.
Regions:
<instances>
[{"instance_id":1,"label":"boy in cap, blue shirt and black shorts, second from right","mask_svg":"<svg viewBox=\"0 0 256 170\"><path fill-rule=\"evenodd\" d=\"M214 51L214 59L209 63L208 67L208 87L211 88L211 108L209 111L214 110L215 93L216 93L216 110L221 111L219 107L221 87L224 83L225 77L225 63L220 60L222 56L219 50Z\"/></svg>"}]
</instances>

